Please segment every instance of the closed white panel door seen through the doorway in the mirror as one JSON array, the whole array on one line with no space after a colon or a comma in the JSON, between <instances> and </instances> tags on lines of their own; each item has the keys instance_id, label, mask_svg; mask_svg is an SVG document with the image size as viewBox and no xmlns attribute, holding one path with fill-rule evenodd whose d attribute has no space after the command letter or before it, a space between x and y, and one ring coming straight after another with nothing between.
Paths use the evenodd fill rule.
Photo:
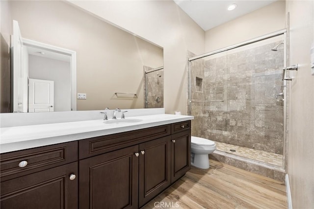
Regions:
<instances>
[{"instance_id":1,"label":"closed white panel door seen through the doorway in the mirror","mask_svg":"<svg viewBox=\"0 0 314 209\"><path fill-rule=\"evenodd\" d=\"M28 79L28 112L53 112L53 81Z\"/></svg>"}]
</instances>

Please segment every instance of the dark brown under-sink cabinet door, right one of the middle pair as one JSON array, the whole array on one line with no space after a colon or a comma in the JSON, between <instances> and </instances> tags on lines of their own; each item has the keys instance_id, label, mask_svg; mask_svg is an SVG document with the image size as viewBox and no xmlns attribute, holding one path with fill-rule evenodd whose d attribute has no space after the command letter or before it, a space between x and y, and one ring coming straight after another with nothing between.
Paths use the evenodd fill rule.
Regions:
<instances>
[{"instance_id":1,"label":"dark brown under-sink cabinet door, right one of the middle pair","mask_svg":"<svg viewBox=\"0 0 314 209\"><path fill-rule=\"evenodd\" d=\"M139 145L139 206L153 199L171 183L171 137ZM144 151L144 152L143 152Z\"/></svg>"}]
</instances>

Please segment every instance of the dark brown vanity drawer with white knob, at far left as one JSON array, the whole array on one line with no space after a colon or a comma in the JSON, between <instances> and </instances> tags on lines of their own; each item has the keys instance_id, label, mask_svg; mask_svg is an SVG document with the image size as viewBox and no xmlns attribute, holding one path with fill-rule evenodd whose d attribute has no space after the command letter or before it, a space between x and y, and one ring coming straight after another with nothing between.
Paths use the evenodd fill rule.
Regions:
<instances>
[{"instance_id":1,"label":"dark brown vanity drawer with white knob, at far left","mask_svg":"<svg viewBox=\"0 0 314 209\"><path fill-rule=\"evenodd\" d=\"M77 160L78 141L3 153L0 160L1 182Z\"/></svg>"}]
</instances>

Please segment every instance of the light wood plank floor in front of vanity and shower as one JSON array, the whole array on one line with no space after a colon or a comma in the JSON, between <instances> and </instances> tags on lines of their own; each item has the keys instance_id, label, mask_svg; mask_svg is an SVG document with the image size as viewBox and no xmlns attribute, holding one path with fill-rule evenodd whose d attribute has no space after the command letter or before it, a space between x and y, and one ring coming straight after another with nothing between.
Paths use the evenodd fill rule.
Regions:
<instances>
[{"instance_id":1,"label":"light wood plank floor in front of vanity and shower","mask_svg":"<svg viewBox=\"0 0 314 209\"><path fill-rule=\"evenodd\" d=\"M191 168L144 209L287 209L284 182L209 160Z\"/></svg>"}]
</instances>

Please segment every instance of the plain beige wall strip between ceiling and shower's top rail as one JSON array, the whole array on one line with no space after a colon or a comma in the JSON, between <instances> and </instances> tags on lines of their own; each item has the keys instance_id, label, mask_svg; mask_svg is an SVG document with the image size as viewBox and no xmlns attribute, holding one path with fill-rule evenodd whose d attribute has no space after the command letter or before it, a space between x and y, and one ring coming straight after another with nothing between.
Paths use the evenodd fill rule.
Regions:
<instances>
[{"instance_id":1,"label":"plain beige wall strip between ceiling and shower's top rail","mask_svg":"<svg viewBox=\"0 0 314 209\"><path fill-rule=\"evenodd\" d=\"M278 0L206 31L206 52L232 46L286 27L286 1Z\"/></svg>"}]
</instances>

